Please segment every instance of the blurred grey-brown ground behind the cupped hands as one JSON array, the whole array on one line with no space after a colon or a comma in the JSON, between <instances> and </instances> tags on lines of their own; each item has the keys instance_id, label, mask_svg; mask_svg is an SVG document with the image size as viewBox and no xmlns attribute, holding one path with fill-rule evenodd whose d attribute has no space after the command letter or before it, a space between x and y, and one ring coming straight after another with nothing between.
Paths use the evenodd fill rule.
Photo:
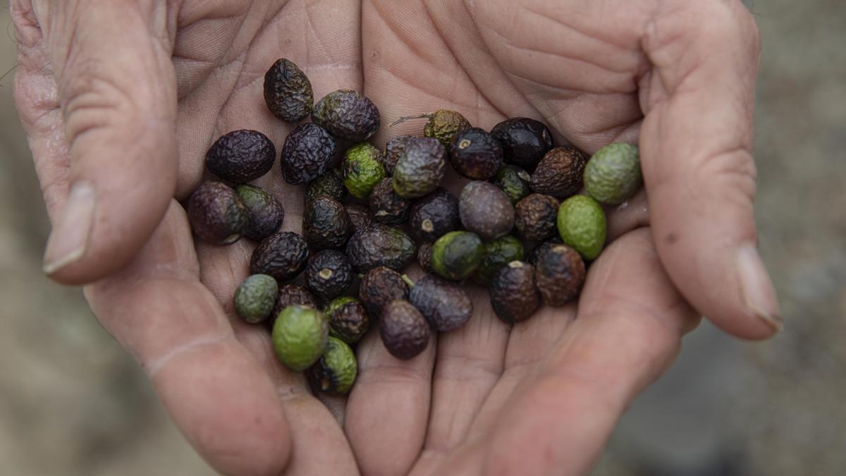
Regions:
<instances>
[{"instance_id":1,"label":"blurred grey-brown ground behind the cupped hands","mask_svg":"<svg viewBox=\"0 0 846 476\"><path fill-rule=\"evenodd\" d=\"M761 251L786 331L703 325L635 401L596 474L843 474L846 468L846 3L759 0ZM0 75L14 66L0 4ZM41 275L49 224L0 80L0 473L211 474L78 290Z\"/></svg>"}]
</instances>

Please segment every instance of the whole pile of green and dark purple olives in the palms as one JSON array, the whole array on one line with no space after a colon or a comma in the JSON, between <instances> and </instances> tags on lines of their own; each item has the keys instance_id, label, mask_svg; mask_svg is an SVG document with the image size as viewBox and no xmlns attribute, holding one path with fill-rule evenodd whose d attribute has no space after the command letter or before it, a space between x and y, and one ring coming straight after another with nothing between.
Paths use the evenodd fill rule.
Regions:
<instances>
[{"instance_id":1,"label":"whole pile of green and dark purple olives in the palms","mask_svg":"<svg viewBox=\"0 0 846 476\"><path fill-rule=\"evenodd\" d=\"M589 159L555 147L528 118L486 131L446 109L409 116L397 122L426 119L422 136L382 150L368 142L381 124L370 99L338 90L314 103L310 81L284 58L267 71L264 97L283 121L311 118L290 131L279 160L288 184L307 184L302 233L279 231L283 205L248 184L277 158L255 130L211 146L206 168L219 180L190 196L190 224L214 245L257 242L235 312L268 325L280 361L327 393L349 392L353 346L375 325L400 359L426 350L432 332L459 329L473 314L465 283L489 288L509 324L574 300L606 241L600 202L624 202L642 181L637 147L611 144ZM448 169L463 178L458 196L442 186ZM413 282L403 272L415 258L426 275Z\"/></svg>"}]
</instances>

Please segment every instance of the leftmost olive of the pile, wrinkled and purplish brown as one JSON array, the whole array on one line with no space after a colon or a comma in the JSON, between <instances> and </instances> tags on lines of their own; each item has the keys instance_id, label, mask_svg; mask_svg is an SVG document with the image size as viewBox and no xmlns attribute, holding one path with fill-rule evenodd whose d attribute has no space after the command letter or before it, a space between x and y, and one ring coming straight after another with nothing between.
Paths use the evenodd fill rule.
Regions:
<instances>
[{"instance_id":1,"label":"leftmost olive of the pile, wrinkled and purplish brown","mask_svg":"<svg viewBox=\"0 0 846 476\"><path fill-rule=\"evenodd\" d=\"M211 245L231 245L239 241L250 216L238 194L222 182L203 182L188 200L191 230Z\"/></svg>"}]
</instances>

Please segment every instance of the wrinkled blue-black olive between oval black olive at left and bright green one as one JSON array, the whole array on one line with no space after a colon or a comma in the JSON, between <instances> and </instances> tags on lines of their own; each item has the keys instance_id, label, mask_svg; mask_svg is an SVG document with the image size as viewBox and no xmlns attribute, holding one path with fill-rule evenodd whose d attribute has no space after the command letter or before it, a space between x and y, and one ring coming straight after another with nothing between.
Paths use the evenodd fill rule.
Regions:
<instances>
[{"instance_id":1,"label":"wrinkled blue-black olive between oval black olive at left and bright green one","mask_svg":"<svg viewBox=\"0 0 846 476\"><path fill-rule=\"evenodd\" d=\"M335 158L335 140L313 123L294 127L282 146L282 175L289 184L305 184L326 174Z\"/></svg>"}]
</instances>

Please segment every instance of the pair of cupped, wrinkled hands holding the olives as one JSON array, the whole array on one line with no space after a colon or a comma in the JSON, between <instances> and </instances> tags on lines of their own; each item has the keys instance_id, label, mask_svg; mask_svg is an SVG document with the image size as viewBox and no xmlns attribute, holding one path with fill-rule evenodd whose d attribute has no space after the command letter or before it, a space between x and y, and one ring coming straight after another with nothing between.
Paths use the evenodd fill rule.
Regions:
<instances>
[{"instance_id":1,"label":"pair of cupped, wrinkled hands holding the olives","mask_svg":"<svg viewBox=\"0 0 846 476\"><path fill-rule=\"evenodd\" d=\"M696 316L745 338L776 332L753 251L758 36L737 0L11 4L15 95L54 225L46 270L97 280L94 313L222 473L585 473ZM288 125L258 107L282 54L316 97L363 89L386 124L451 108L486 129L541 119L586 153L638 142L651 212L640 194L612 213L578 307L508 332L478 295L464 328L404 363L371 331L351 394L324 405L264 329L233 318L253 245L196 244L174 200L223 132L282 145ZM299 230L302 187L278 168L256 185Z\"/></svg>"}]
</instances>

